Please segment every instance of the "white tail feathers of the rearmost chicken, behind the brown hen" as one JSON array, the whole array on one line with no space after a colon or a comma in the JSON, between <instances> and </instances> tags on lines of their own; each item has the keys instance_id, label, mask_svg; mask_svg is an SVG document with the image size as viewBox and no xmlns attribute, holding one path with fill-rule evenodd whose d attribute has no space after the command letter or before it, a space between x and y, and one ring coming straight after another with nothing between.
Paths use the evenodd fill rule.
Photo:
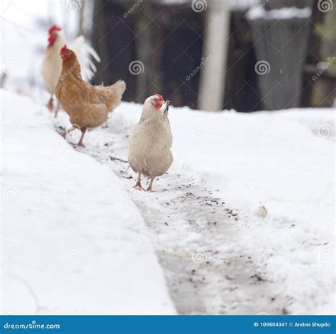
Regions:
<instances>
[{"instance_id":1,"label":"white tail feathers of the rearmost chicken, behind the brown hen","mask_svg":"<svg viewBox=\"0 0 336 334\"><path fill-rule=\"evenodd\" d=\"M91 80L97 72L96 65L91 57L94 58L96 62L101 62L99 55L85 42L84 36L82 35L74 40L72 50L76 53L78 62L81 65L83 78L87 81Z\"/></svg>"}]
</instances>

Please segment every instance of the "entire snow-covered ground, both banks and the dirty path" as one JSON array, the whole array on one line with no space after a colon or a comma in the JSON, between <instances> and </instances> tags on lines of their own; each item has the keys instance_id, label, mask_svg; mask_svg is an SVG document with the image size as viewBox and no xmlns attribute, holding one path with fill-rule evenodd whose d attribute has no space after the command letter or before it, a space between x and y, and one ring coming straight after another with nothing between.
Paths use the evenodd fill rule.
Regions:
<instances>
[{"instance_id":1,"label":"entire snow-covered ground, both banks and the dirty path","mask_svg":"<svg viewBox=\"0 0 336 334\"><path fill-rule=\"evenodd\" d=\"M333 313L332 110L171 108L147 193L126 162L141 105L73 149L66 113L1 96L4 313Z\"/></svg>"}]
</instances>

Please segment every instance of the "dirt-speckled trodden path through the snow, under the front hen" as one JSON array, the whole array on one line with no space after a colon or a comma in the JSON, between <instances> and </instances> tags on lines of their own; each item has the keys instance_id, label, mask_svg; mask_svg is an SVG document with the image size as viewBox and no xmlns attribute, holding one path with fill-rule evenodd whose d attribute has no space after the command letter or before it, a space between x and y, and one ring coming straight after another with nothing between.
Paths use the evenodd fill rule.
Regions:
<instances>
[{"instance_id":1,"label":"dirt-speckled trodden path through the snow, under the front hen","mask_svg":"<svg viewBox=\"0 0 336 334\"><path fill-rule=\"evenodd\" d=\"M253 250L241 241L249 226L262 224L260 219L230 207L215 191L206 188L206 180L202 182L187 170L178 173L174 166L155 180L155 192L133 190L135 173L125 162L130 129L116 129L113 125L87 132L86 148L77 150L124 180L147 223L177 311L286 313L291 299L274 295L276 282L268 280L267 263L253 258ZM147 247L143 245L139 252Z\"/></svg>"}]
</instances>

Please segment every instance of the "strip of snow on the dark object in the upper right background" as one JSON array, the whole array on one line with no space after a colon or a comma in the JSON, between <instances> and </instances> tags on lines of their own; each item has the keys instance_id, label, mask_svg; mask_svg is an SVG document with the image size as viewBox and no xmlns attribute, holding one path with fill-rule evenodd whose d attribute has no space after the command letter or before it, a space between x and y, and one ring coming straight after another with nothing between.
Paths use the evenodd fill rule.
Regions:
<instances>
[{"instance_id":1,"label":"strip of snow on the dark object in the upper right background","mask_svg":"<svg viewBox=\"0 0 336 334\"><path fill-rule=\"evenodd\" d=\"M291 18L309 18L311 16L311 8L283 7L280 9L272 9L266 11L263 6L254 6L246 13L250 20L260 18L266 20L289 20Z\"/></svg>"}]
</instances>

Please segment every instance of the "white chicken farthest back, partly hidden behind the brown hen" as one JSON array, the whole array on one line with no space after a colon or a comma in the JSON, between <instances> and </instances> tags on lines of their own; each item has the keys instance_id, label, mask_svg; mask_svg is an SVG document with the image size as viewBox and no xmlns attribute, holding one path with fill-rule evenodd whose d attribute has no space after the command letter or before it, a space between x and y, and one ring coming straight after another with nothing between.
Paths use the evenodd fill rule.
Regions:
<instances>
[{"instance_id":1,"label":"white chicken farthest back, partly hidden behind the brown hen","mask_svg":"<svg viewBox=\"0 0 336 334\"><path fill-rule=\"evenodd\" d=\"M57 85L57 81L60 78L62 72L62 59L60 57L60 50L65 45L65 41L60 34L61 28L57 25L52 25L52 27L48 30L48 45L45 50L45 57L43 58L43 62L41 65L41 73L43 77L43 82L45 84L45 88L50 93L50 99L47 103L47 108L52 111L53 103L52 96L55 94L55 88ZM92 61L91 57L93 57L96 62L100 62L101 59L99 55L94 51L92 47L86 44L84 40L84 36L79 36L74 40L72 50L77 55L77 59L82 69L82 76L86 80L90 80L93 78L94 74L96 74L96 66ZM57 111L60 108L60 104L57 103L57 108L55 111L55 116L57 116Z\"/></svg>"}]
</instances>

